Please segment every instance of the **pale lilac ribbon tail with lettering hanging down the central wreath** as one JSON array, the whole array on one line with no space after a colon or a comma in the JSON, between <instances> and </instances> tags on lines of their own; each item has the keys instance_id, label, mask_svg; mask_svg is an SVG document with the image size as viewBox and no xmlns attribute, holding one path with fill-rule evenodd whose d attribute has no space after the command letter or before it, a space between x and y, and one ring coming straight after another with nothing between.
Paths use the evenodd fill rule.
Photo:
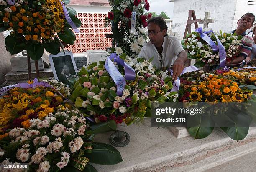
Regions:
<instances>
[{"instance_id":1,"label":"pale lilac ribbon tail with lettering hanging down the central wreath","mask_svg":"<svg viewBox=\"0 0 256 172\"><path fill-rule=\"evenodd\" d=\"M118 69L115 67L114 63L110 60L110 58L106 59L105 69L108 71L109 75L112 77L113 81L115 82L115 84L117 86L117 92L116 92L117 95L122 96L123 90L126 85L125 78L118 71Z\"/></svg>"}]
</instances>

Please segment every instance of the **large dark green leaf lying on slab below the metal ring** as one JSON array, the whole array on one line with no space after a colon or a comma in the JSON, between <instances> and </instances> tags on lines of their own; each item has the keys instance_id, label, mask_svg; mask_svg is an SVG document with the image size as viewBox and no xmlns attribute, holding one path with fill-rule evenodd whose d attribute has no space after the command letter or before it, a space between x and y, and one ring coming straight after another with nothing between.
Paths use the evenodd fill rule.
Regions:
<instances>
[{"instance_id":1,"label":"large dark green leaf lying on slab below the metal ring","mask_svg":"<svg viewBox=\"0 0 256 172\"><path fill-rule=\"evenodd\" d=\"M84 156L95 164L113 165L123 161L120 152L105 143L92 143L92 153L84 154Z\"/></svg>"}]
</instances>

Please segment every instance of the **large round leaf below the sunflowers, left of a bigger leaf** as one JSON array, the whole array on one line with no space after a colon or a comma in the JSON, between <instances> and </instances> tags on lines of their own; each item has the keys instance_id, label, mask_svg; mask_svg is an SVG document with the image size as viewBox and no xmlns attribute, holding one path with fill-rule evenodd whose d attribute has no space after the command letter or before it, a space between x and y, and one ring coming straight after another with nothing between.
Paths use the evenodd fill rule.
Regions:
<instances>
[{"instance_id":1,"label":"large round leaf below the sunflowers, left of a bigger leaf","mask_svg":"<svg viewBox=\"0 0 256 172\"><path fill-rule=\"evenodd\" d=\"M194 139L202 139L209 136L212 133L214 127L205 127L205 126L214 126L214 121L208 115L189 115L187 118L187 122L192 123L188 126L195 127L187 127L189 134L194 137ZM203 127L202 127L203 126Z\"/></svg>"}]
</instances>

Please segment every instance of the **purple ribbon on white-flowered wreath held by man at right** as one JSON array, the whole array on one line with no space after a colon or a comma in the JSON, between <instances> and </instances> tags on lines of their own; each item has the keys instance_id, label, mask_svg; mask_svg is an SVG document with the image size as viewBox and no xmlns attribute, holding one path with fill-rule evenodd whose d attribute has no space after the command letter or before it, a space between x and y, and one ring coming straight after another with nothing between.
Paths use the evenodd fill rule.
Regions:
<instances>
[{"instance_id":1,"label":"purple ribbon on white-flowered wreath held by man at right","mask_svg":"<svg viewBox=\"0 0 256 172\"><path fill-rule=\"evenodd\" d=\"M202 27L200 28L197 28L195 30L195 32L199 33L201 38L203 40L205 40L211 47L212 47L212 50L213 51L217 51L219 50L220 52L220 67L221 68L225 68L225 63L226 63L226 50L225 48L223 47L222 43L220 42L219 38L217 37L217 35L215 34L215 32L213 32L212 30L209 30L207 32L202 32ZM218 42L218 46L211 40L211 38L207 35L208 33L212 32L215 37L216 37L216 40Z\"/></svg>"}]
</instances>

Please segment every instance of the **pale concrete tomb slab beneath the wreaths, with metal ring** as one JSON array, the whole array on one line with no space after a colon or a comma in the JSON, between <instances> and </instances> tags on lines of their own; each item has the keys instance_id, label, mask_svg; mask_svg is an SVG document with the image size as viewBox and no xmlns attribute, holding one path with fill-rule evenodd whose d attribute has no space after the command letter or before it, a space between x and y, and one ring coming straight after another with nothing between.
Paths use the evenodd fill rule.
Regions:
<instances>
[{"instance_id":1,"label":"pale concrete tomb slab beneath the wreaths, with metal ring","mask_svg":"<svg viewBox=\"0 0 256 172\"><path fill-rule=\"evenodd\" d=\"M111 166L94 165L100 172L165 172L177 169L179 171L182 167L256 141L255 127L251 127L247 137L238 142L230 139L219 128L215 128L205 139L177 139L167 128L151 127L150 119L146 119L139 126L120 125L118 129L128 132L131 136L129 145L117 147L124 161ZM96 135L95 142L109 144L108 137L111 133Z\"/></svg>"}]
</instances>

